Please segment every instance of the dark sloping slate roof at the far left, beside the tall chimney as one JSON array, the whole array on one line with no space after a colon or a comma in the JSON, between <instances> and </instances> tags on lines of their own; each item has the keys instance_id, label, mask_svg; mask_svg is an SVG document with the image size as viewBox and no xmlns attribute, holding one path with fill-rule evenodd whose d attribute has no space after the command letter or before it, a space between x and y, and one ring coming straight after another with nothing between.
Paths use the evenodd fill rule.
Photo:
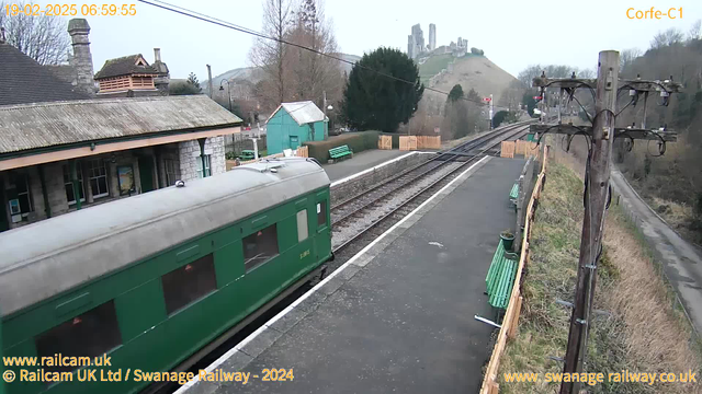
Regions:
<instances>
[{"instance_id":1,"label":"dark sloping slate roof at the far left, beside the tall chimney","mask_svg":"<svg viewBox=\"0 0 702 394\"><path fill-rule=\"evenodd\" d=\"M10 44L0 44L0 105L89 99Z\"/></svg>"}]
</instances>

